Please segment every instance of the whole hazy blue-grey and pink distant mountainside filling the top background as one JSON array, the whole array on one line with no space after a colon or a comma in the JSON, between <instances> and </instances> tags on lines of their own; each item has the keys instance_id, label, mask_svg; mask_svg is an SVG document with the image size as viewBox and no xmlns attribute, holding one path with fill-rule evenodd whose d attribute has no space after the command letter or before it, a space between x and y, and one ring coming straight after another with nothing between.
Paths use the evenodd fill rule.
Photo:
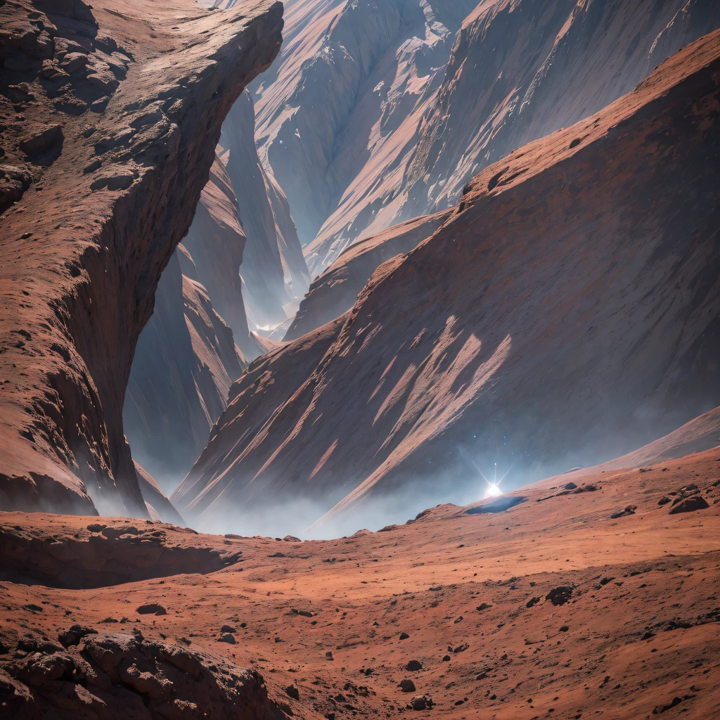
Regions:
<instances>
[{"instance_id":1,"label":"whole hazy blue-grey and pink distant mountainside filling the top background","mask_svg":"<svg viewBox=\"0 0 720 720\"><path fill-rule=\"evenodd\" d=\"M710 0L294 6L261 78L258 140L312 276L356 240L451 207L482 168L719 26Z\"/></svg>"}]
</instances>

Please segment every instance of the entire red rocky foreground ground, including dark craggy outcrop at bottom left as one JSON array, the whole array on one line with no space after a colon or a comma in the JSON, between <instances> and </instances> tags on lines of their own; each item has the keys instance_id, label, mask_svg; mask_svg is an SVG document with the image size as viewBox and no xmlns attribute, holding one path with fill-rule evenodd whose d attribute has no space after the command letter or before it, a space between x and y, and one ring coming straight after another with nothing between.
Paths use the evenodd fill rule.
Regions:
<instances>
[{"instance_id":1,"label":"entire red rocky foreground ground, including dark craggy outcrop at bottom left","mask_svg":"<svg viewBox=\"0 0 720 720\"><path fill-rule=\"evenodd\" d=\"M330 541L0 514L2 548L52 536L27 569L71 550L129 557L138 539L179 546L154 579L112 587L0 580L0 702L17 718L113 717L119 703L222 718L246 703L248 718L707 720L720 713L719 468L716 448L588 469L523 487L509 510L439 505ZM191 546L238 562L186 574Z\"/></svg>"}]
</instances>

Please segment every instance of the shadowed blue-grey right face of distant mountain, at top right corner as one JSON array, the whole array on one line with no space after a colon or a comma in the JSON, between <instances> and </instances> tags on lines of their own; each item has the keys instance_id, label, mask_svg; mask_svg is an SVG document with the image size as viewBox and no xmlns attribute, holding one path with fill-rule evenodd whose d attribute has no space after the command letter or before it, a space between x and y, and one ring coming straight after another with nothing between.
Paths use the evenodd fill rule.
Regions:
<instances>
[{"instance_id":1,"label":"shadowed blue-grey right face of distant mountain, at top right corner","mask_svg":"<svg viewBox=\"0 0 720 720\"><path fill-rule=\"evenodd\" d=\"M703 0L481 3L423 123L401 216L457 202L480 169L597 112L716 27L720 6Z\"/></svg>"}]
</instances>

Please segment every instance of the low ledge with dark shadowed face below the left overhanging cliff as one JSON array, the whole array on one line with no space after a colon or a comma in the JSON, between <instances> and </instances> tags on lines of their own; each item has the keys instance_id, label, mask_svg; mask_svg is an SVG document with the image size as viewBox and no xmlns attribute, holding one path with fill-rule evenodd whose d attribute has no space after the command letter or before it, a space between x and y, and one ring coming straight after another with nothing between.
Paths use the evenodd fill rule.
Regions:
<instances>
[{"instance_id":1,"label":"low ledge with dark shadowed face below the left overhanging cliff","mask_svg":"<svg viewBox=\"0 0 720 720\"><path fill-rule=\"evenodd\" d=\"M22 513L0 519L0 579L51 588L104 588L215 572L242 554L234 540L223 542L149 520L40 515L35 521Z\"/></svg>"}]
</instances>

